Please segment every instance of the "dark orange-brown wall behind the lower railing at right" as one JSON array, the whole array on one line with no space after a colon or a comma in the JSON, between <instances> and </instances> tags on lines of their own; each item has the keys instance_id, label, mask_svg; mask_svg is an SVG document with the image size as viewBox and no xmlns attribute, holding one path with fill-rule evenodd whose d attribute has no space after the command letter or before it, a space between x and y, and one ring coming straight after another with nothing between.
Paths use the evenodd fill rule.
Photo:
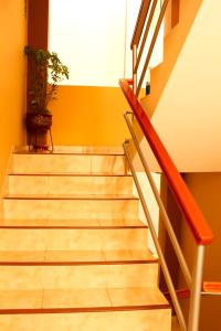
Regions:
<instances>
[{"instance_id":1,"label":"dark orange-brown wall behind the lower railing at right","mask_svg":"<svg viewBox=\"0 0 221 331\"><path fill-rule=\"evenodd\" d=\"M214 242L206 248L203 279L221 281L221 173L189 173L185 175L185 180L214 234ZM192 266L196 246L192 239L190 239L189 229L183 223L180 234L185 255L189 265ZM202 299L200 331L220 330L220 307L221 297Z\"/></svg>"}]
</instances>

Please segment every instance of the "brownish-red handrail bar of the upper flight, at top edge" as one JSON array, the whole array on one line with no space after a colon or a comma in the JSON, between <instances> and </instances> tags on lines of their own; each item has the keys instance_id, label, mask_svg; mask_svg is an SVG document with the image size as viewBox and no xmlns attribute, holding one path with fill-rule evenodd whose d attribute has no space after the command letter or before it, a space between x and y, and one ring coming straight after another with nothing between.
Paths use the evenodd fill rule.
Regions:
<instances>
[{"instance_id":1,"label":"brownish-red handrail bar of the upper flight, at top edge","mask_svg":"<svg viewBox=\"0 0 221 331\"><path fill-rule=\"evenodd\" d=\"M134 45L138 46L138 44L139 44L150 3L151 3L150 0L143 0L143 2L141 2L139 13L137 17L136 26L135 26L133 39L131 39L131 43L130 43L131 50L133 50Z\"/></svg>"}]
</instances>

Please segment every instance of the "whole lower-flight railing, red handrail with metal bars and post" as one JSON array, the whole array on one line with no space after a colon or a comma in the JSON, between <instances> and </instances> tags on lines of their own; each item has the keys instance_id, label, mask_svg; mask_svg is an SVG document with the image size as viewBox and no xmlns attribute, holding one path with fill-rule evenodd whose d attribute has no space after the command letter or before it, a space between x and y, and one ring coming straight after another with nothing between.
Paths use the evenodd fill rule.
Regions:
<instances>
[{"instance_id":1,"label":"whole lower-flight railing, red handrail with metal bars and post","mask_svg":"<svg viewBox=\"0 0 221 331\"><path fill-rule=\"evenodd\" d=\"M185 276L188 290L190 291L190 307L189 307L189 319L188 322L185 320L180 303L179 303L179 297L177 295L177 291L175 289L175 286L172 284L172 279L170 276L169 268L167 266L166 259L164 257L162 248L160 247L160 243L158 241L158 236L156 234L150 214L148 212L148 207L145 201L145 197L143 195L141 188L139 185L139 181L136 175L135 168L133 166L133 160L129 154L128 149L128 141L124 143L125 154L128 160L128 164L130 168L130 171L134 177L134 181L137 188L138 195L140 197L140 202L143 205L143 210L145 212L147 223L159 256L159 263L161 265L161 269L165 276L165 279L167 281L167 286L169 289L169 293L177 313L177 318L179 320L179 324L182 331L198 331L199 330L199 316L200 316L200 300L201 300L201 289L202 289L202 271L203 271L203 260L204 260L204 246L212 243L213 235L212 232L206 222L201 211L197 206L190 191L188 190L185 181L182 180L181 175L179 174L177 168L175 167L170 156L168 154L166 148L164 147L162 142L160 141L156 130L154 129L148 116L146 115L144 108L141 107L136 94L130 88L129 84L131 84L131 81L120 79L119 85L123 89L123 93L133 110L133 113L126 113L125 119L128 126L128 129L131 135L131 139L134 141L134 145L136 147L136 150L140 157L140 160L143 162L145 172L147 174L147 178L149 180L149 183L152 188L152 192L155 194L156 201L158 203L160 214L162 216L162 221L165 223L166 229L169 234L171 244L173 246L173 249L176 252L176 255L178 257L178 261L181 267L181 271ZM157 193L157 189L154 184L154 180L151 179L150 171L148 169L147 162L143 156L143 152L139 148L139 142L136 137L136 132L133 128L133 122L129 120L128 116L129 114L133 114L133 116L136 117L137 122L139 124L144 136L146 137L155 157L158 161L162 173L165 174L168 185L171 189L171 192L173 193L173 196L177 201L177 204L183 215L185 221L187 222L190 233L192 234L192 238L196 243L197 252L194 256L194 266L193 271L190 274L189 268L187 266L187 261L185 259L185 256L182 254L181 247L176 238L176 234L172 229L170 220L167 215L167 212L164 207L161 197L159 193Z\"/></svg>"}]
</instances>

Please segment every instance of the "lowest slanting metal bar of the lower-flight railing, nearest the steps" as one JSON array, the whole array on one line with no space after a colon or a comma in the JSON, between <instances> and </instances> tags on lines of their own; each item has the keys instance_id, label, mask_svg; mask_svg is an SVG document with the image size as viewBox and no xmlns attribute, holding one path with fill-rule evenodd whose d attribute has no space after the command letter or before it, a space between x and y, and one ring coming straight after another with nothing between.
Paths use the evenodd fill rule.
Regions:
<instances>
[{"instance_id":1,"label":"lowest slanting metal bar of the lower-flight railing, nearest the steps","mask_svg":"<svg viewBox=\"0 0 221 331\"><path fill-rule=\"evenodd\" d=\"M172 279L171 279L171 276L170 276L170 273L169 273L164 253L162 253L160 244L158 242L157 233L155 231L155 226L152 224L151 216L149 214L149 211L148 211L148 207L147 207L147 204L146 204L146 201L145 201L145 197L144 197L144 194L143 194L143 191L141 191L141 188L140 188L140 184L139 184L139 181L137 179L137 174L136 174L134 164L131 162L131 158L130 158L129 152L128 152L128 142L125 142L123 146L124 146L125 156L127 158L129 169L131 171L134 182L135 182L135 185L136 185L139 199L140 199L140 203L141 203L141 206L143 206L146 220L147 220L147 224L149 226L149 231L151 233L151 237L152 237L152 241L155 243L155 247L157 249L160 266L161 266L161 269L162 269L162 273L164 273L164 276L165 276L165 280L167 282L167 286L168 286L168 289L169 289L169 292L170 292L170 296L171 296L171 300L172 300L172 303L173 303L173 307L175 307L175 310L176 310L176 313L177 313L177 318L179 320L180 328L181 328L182 331L187 331L187 324L186 324L186 321L185 321L185 317L182 314L182 310L181 310L180 305L179 305L179 300L177 298L176 289L175 289L175 286L172 284Z\"/></svg>"}]
</instances>

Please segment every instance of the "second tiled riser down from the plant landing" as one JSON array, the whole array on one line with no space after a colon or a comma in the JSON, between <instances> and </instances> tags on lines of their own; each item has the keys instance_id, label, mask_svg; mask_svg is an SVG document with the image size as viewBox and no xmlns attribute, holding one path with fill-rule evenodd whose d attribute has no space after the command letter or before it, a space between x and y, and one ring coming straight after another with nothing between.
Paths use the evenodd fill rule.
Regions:
<instances>
[{"instance_id":1,"label":"second tiled riser down from the plant landing","mask_svg":"<svg viewBox=\"0 0 221 331\"><path fill-rule=\"evenodd\" d=\"M9 194L131 194L130 177L11 175Z\"/></svg>"}]
</instances>

